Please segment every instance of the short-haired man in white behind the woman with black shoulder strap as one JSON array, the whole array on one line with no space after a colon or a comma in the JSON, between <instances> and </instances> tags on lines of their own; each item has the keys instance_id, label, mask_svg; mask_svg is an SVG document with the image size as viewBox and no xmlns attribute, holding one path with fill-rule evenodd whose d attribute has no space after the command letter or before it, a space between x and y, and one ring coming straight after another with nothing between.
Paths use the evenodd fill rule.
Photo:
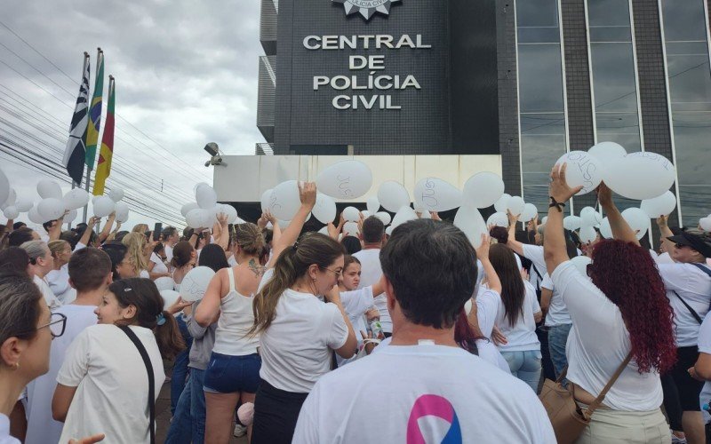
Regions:
<instances>
[{"instance_id":1,"label":"short-haired man in white behind the woman with black shoulder strap","mask_svg":"<svg viewBox=\"0 0 711 444\"><path fill-rule=\"evenodd\" d=\"M28 384L28 432L25 444L58 442L64 424L52 419L52 395L57 373L74 338L96 324L94 310L111 283L111 259L104 251L85 248L72 255L68 263L69 283L76 289L76 299L53 313L67 316L64 334L55 337L50 351L50 369Z\"/></svg>"}]
</instances>

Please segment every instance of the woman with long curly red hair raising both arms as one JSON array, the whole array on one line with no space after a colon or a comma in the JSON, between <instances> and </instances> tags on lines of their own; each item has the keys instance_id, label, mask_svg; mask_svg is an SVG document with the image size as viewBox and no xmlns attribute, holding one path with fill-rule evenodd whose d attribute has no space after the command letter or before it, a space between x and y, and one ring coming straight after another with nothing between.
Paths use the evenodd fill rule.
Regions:
<instances>
[{"instance_id":1,"label":"woman with long curly red hair raising both arms","mask_svg":"<svg viewBox=\"0 0 711 444\"><path fill-rule=\"evenodd\" d=\"M577 442L669 443L659 374L674 365L676 348L664 282L604 184L598 200L615 239L595 245L590 279L578 272L565 251L563 207L581 186L568 186L566 165L558 167L551 171L544 249L547 271L571 314L567 379L584 414L622 369Z\"/></svg>"}]
</instances>

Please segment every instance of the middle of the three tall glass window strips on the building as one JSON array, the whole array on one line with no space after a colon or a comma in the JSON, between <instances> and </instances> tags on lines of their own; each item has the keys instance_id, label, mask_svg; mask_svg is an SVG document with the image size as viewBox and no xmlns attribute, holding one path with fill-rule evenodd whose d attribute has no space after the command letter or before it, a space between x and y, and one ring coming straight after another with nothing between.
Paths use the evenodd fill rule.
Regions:
<instances>
[{"instance_id":1,"label":"middle of the three tall glass window strips on the building","mask_svg":"<svg viewBox=\"0 0 711 444\"><path fill-rule=\"evenodd\" d=\"M596 140L642 150L629 0L587 0Z\"/></svg>"}]
</instances>

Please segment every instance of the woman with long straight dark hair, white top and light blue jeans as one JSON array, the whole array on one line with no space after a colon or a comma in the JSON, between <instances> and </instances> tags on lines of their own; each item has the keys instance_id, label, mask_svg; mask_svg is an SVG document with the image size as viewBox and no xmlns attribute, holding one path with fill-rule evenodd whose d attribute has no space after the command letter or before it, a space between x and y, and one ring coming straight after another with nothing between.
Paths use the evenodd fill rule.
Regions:
<instances>
[{"instance_id":1,"label":"woman with long straight dark hair, white top and light blue jeans","mask_svg":"<svg viewBox=\"0 0 711 444\"><path fill-rule=\"evenodd\" d=\"M499 351L508 362L511 374L528 384L534 392L540 382L540 342L536 322L542 314L536 290L524 282L514 253L501 243L491 245L491 266L501 281L501 299L496 326L507 338Z\"/></svg>"}]
</instances>

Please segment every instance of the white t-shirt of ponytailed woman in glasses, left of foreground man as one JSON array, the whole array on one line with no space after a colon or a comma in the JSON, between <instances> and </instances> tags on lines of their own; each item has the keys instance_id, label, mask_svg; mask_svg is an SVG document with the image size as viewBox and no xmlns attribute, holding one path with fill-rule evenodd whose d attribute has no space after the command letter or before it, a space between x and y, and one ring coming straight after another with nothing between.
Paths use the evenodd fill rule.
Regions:
<instances>
[{"instance_id":1,"label":"white t-shirt of ponytailed woman in glasses, left of foreground man","mask_svg":"<svg viewBox=\"0 0 711 444\"><path fill-rule=\"evenodd\" d=\"M331 349L347 339L348 326L338 306L286 289L276 303L274 321L260 336L260 377L286 392L310 392L331 370Z\"/></svg>"}]
</instances>

